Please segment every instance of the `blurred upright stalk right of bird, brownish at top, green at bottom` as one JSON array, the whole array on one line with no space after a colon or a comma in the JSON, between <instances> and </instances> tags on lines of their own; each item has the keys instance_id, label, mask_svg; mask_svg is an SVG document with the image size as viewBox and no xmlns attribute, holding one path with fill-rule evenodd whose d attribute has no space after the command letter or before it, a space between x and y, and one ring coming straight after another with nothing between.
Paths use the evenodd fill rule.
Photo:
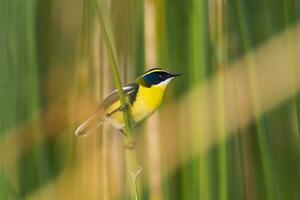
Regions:
<instances>
[{"instance_id":1,"label":"blurred upright stalk right of bird, brownish at top, green at bottom","mask_svg":"<svg viewBox=\"0 0 300 200\"><path fill-rule=\"evenodd\" d=\"M211 17L213 19L211 31L212 42L215 50L215 66L221 73L218 74L217 81L220 87L216 88L218 98L218 133L219 137L223 138L218 145L219 155L219 198L222 200L228 199L228 174L227 174L227 140L226 140L226 119L225 119L225 93L224 93L224 78L225 67L228 65L227 60L227 35L226 35L226 0L215 0L211 5Z\"/></svg>"}]
</instances>

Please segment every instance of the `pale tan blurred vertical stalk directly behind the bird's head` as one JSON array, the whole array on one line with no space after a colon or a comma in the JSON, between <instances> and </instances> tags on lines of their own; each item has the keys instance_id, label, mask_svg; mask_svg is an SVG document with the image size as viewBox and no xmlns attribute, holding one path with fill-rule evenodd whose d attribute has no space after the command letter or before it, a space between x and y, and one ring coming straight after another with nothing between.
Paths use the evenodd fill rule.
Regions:
<instances>
[{"instance_id":1,"label":"pale tan blurred vertical stalk directly behind the bird's head","mask_svg":"<svg viewBox=\"0 0 300 200\"><path fill-rule=\"evenodd\" d=\"M151 1L144 2L144 44L145 44L145 65L157 66L158 56L158 35L161 32L160 28L165 26L158 26L156 16L160 16L162 21L165 19L165 1ZM165 32L165 31L163 31ZM163 40L163 39L162 39ZM165 40L163 40L165 41ZM161 42L165 44L164 42ZM149 68L148 68L149 69ZM147 68L146 68L147 70ZM153 116L147 120L145 131L147 131L147 151L148 151L148 166L149 166L149 199L163 199L163 191L160 187L162 185L161 173L161 148L159 138L159 116Z\"/></svg>"}]
</instances>

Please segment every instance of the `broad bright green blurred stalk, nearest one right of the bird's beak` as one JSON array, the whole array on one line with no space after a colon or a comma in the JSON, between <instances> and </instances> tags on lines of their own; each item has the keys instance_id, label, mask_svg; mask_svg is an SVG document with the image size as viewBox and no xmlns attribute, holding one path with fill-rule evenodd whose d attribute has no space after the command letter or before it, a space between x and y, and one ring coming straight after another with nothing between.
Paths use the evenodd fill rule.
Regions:
<instances>
[{"instance_id":1,"label":"broad bright green blurred stalk, nearest one right of the bird's beak","mask_svg":"<svg viewBox=\"0 0 300 200\"><path fill-rule=\"evenodd\" d=\"M190 12L190 85L193 87L200 81L204 81L207 78L207 57L205 53L205 46L206 46L206 23L207 23L207 11L206 1L202 0L192 0L192 10ZM208 99L206 96L202 97L204 102L207 102ZM203 132L203 129L198 127L199 121L207 121L206 116L208 115L208 110L206 106L199 106L198 99L200 99L200 90L194 94L194 96L190 100L190 113L191 113L191 120L190 120L190 143L192 151L196 151L198 146L198 133L199 131ZM195 108L199 107L201 109L201 113L195 112ZM197 108L198 109L198 108ZM200 118L200 119L199 119ZM211 191L211 181L210 181L210 173L209 170L209 154L203 153L200 154L197 159L192 161L192 169L191 174L193 178L191 181L186 181L187 188L190 191L190 198L193 199L211 199L210 191ZM190 177L187 177L190 178ZM193 187L191 187L191 185Z\"/></svg>"}]
</instances>

